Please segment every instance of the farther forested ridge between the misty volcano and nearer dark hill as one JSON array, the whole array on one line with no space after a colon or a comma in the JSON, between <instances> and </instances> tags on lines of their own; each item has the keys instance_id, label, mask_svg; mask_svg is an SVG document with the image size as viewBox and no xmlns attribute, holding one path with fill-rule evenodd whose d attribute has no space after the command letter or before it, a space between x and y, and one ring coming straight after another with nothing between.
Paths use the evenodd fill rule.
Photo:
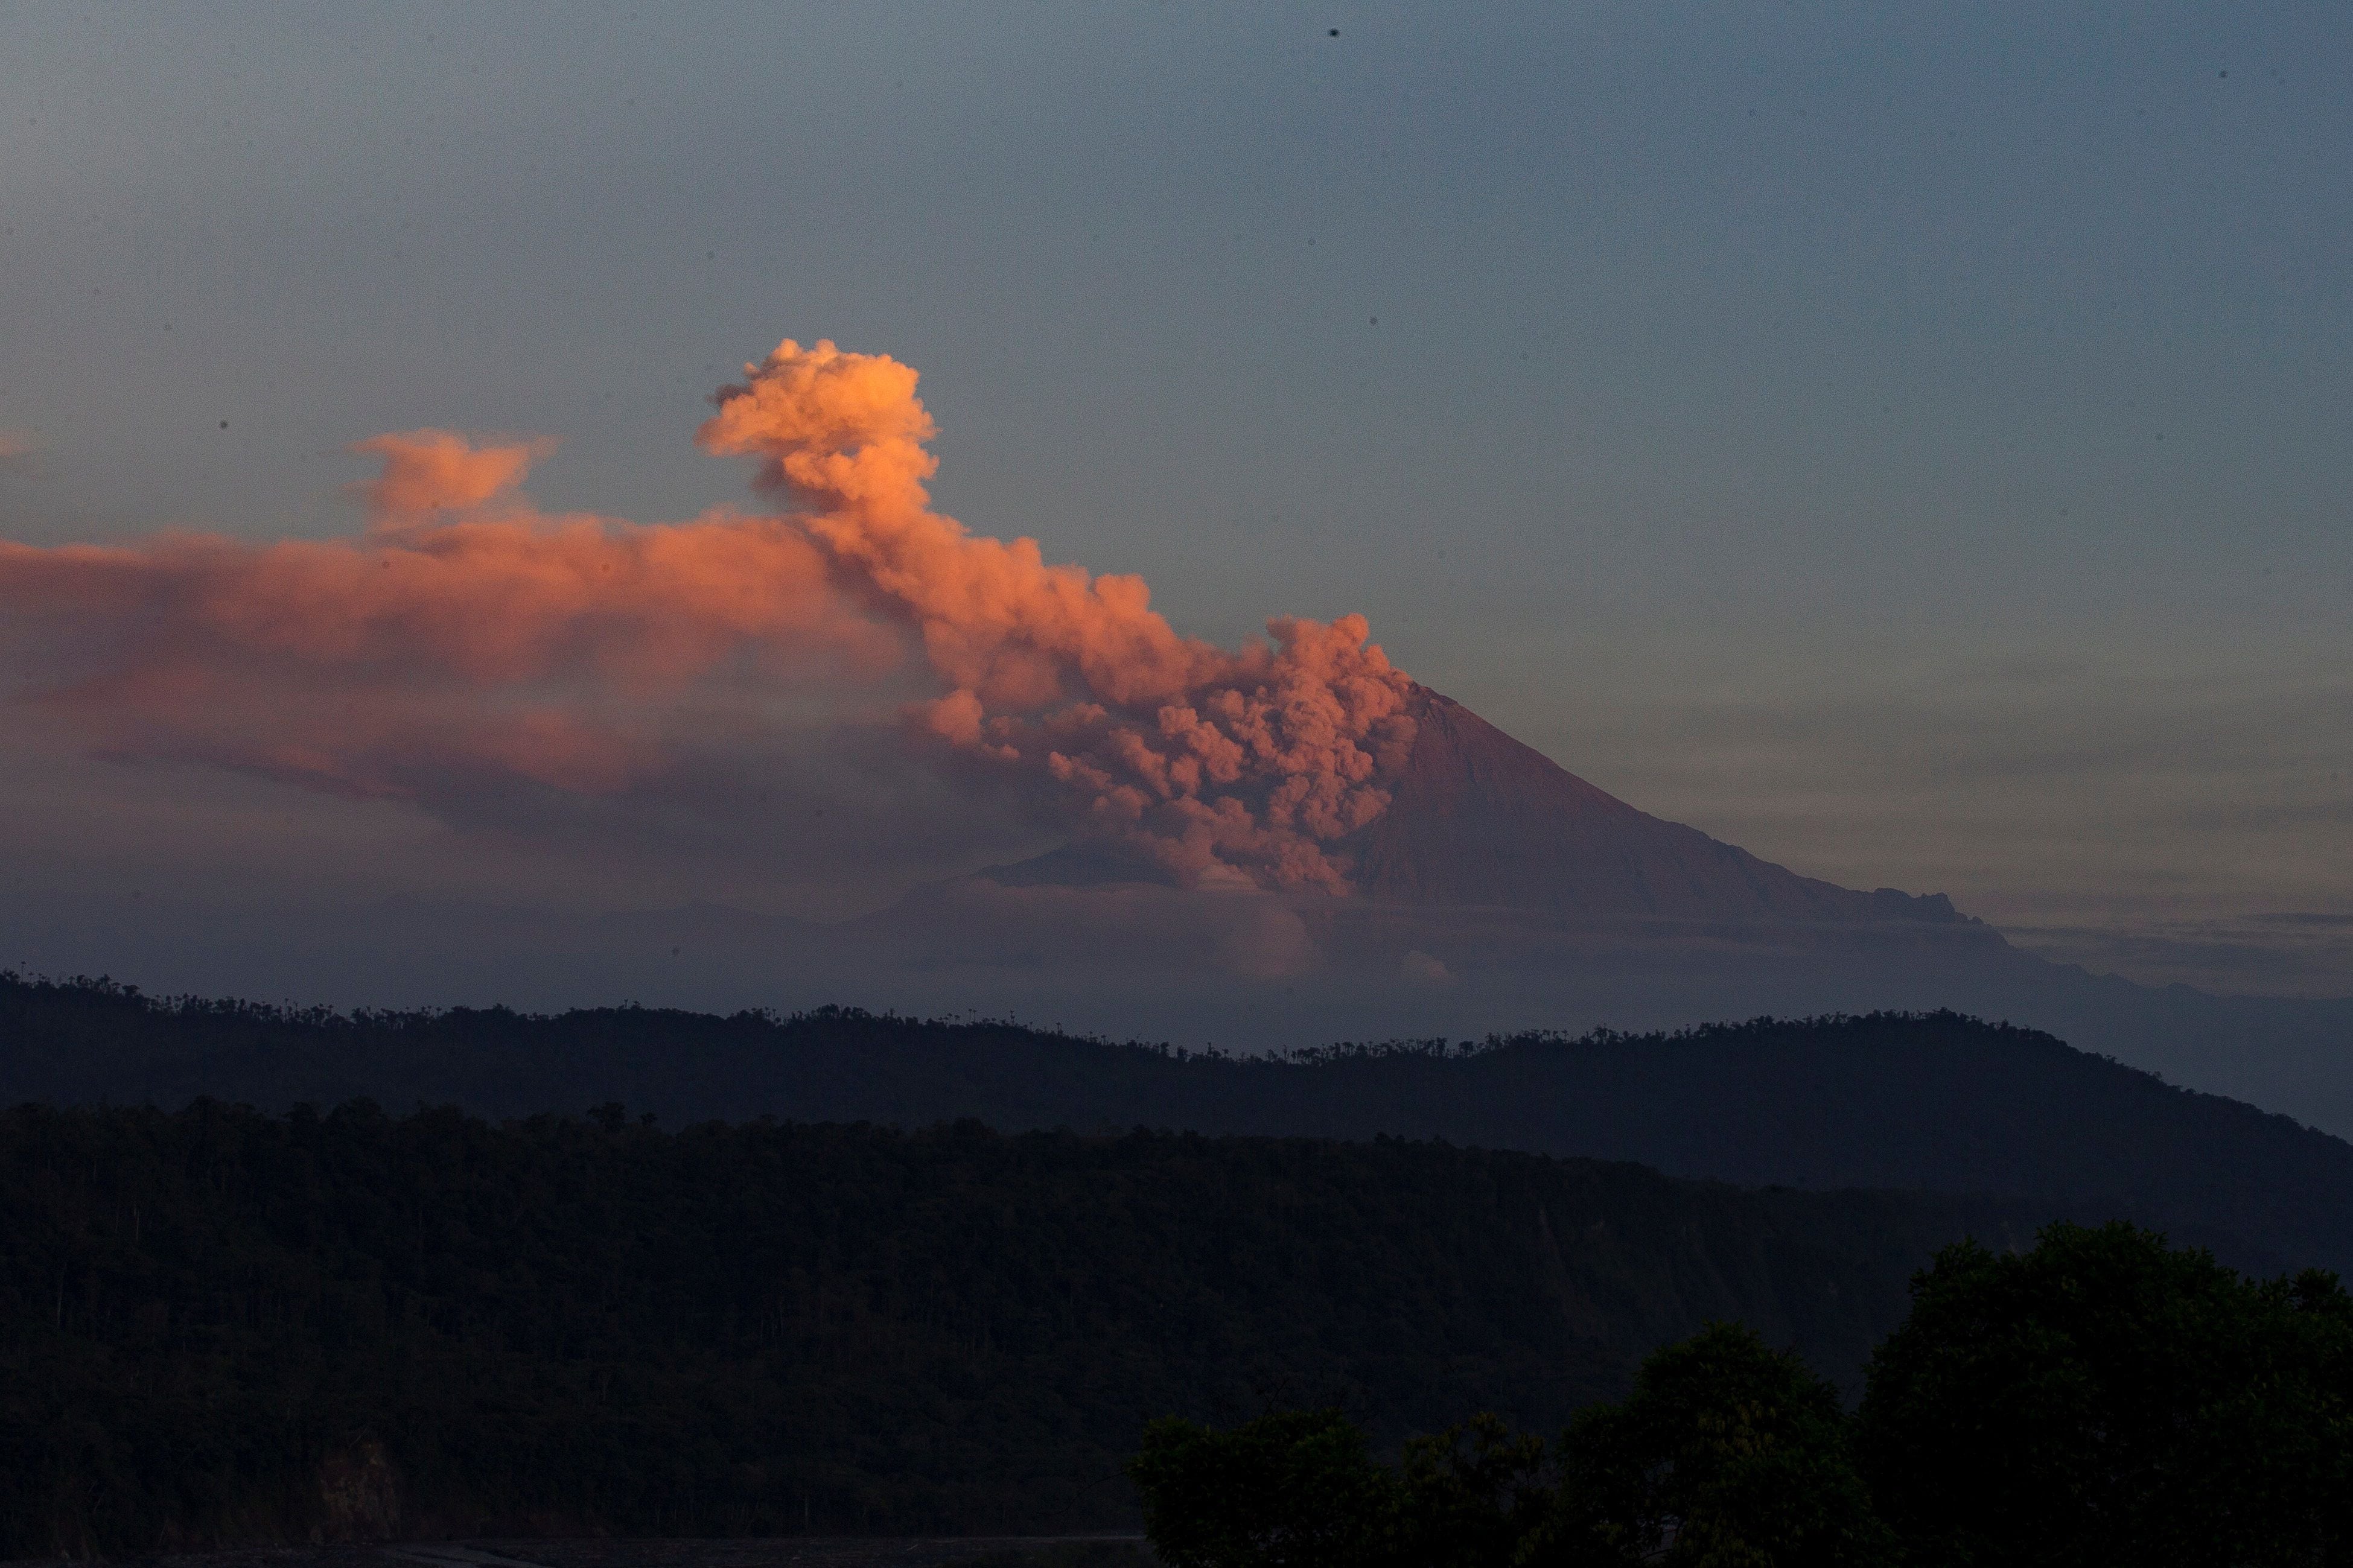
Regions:
<instances>
[{"instance_id":1,"label":"farther forested ridge between the misty volcano and nearer dark hill","mask_svg":"<svg viewBox=\"0 0 2353 1568\"><path fill-rule=\"evenodd\" d=\"M0 980L0 1103L198 1095L492 1117L621 1103L668 1126L1398 1133L1746 1185L2021 1194L2054 1215L2158 1225L2252 1269L2353 1274L2353 1145L1953 1013L1266 1060L849 1011L344 1016Z\"/></svg>"}]
</instances>

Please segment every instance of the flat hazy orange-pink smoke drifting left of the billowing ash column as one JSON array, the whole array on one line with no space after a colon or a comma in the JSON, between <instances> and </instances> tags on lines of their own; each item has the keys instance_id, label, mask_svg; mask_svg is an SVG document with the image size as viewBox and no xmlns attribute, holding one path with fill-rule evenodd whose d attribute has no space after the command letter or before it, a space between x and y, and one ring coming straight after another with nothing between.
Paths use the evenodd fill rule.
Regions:
<instances>
[{"instance_id":1,"label":"flat hazy orange-pink smoke drifting left of the billowing ash column","mask_svg":"<svg viewBox=\"0 0 2353 1568\"><path fill-rule=\"evenodd\" d=\"M186 757L348 795L515 776L607 795L661 771L659 703L734 665L887 663L882 628L774 517L546 517L529 447L362 442L367 531L252 545L0 541L33 703L111 757Z\"/></svg>"}]
</instances>

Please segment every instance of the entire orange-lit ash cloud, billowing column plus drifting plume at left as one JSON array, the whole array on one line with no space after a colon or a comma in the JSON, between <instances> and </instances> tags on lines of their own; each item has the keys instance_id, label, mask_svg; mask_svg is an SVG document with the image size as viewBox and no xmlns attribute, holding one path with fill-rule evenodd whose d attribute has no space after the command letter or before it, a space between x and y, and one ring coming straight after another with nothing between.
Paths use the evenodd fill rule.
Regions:
<instances>
[{"instance_id":1,"label":"entire orange-lit ash cloud, billowing column plus drifting plume at left","mask_svg":"<svg viewBox=\"0 0 2353 1568\"><path fill-rule=\"evenodd\" d=\"M1186 882L1346 886L1388 804L1409 684L1360 616L1179 637L1134 576L1049 567L932 510L915 371L786 341L699 442L760 458L776 515L544 515L546 444L442 430L360 449L367 529L268 545L0 543L0 632L33 703L99 755L179 757L428 806L501 780L619 795L680 762L687 698L744 724L929 684L908 736Z\"/></svg>"}]
</instances>

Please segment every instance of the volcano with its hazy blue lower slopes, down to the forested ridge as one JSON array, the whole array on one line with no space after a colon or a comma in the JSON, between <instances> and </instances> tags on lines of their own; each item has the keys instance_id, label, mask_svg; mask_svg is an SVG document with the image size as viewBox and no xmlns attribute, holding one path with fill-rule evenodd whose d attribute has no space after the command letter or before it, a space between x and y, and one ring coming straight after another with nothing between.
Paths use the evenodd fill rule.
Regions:
<instances>
[{"instance_id":1,"label":"volcano with its hazy blue lower slopes, down to the forested ridge","mask_svg":"<svg viewBox=\"0 0 2353 1568\"><path fill-rule=\"evenodd\" d=\"M868 929L986 1006L1254 1048L1958 1009L2353 1135L2353 997L2052 964L1944 893L1842 889L1638 811L1426 686L1412 715L1391 806L1348 842L1353 898L1186 898L1080 844Z\"/></svg>"}]
</instances>

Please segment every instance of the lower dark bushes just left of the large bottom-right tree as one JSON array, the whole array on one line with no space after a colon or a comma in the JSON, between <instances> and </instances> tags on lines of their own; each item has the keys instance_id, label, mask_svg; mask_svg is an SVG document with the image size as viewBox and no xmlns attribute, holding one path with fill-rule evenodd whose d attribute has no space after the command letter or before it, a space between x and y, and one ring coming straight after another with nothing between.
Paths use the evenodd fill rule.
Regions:
<instances>
[{"instance_id":1,"label":"lower dark bushes just left of the large bottom-right tree","mask_svg":"<svg viewBox=\"0 0 2353 1568\"><path fill-rule=\"evenodd\" d=\"M1280 1410L1153 1422L1129 1476L1169 1568L1894 1561L1838 1389L1732 1324L1657 1352L1551 1448L1480 1415L1388 1467L1339 1410Z\"/></svg>"}]
</instances>

